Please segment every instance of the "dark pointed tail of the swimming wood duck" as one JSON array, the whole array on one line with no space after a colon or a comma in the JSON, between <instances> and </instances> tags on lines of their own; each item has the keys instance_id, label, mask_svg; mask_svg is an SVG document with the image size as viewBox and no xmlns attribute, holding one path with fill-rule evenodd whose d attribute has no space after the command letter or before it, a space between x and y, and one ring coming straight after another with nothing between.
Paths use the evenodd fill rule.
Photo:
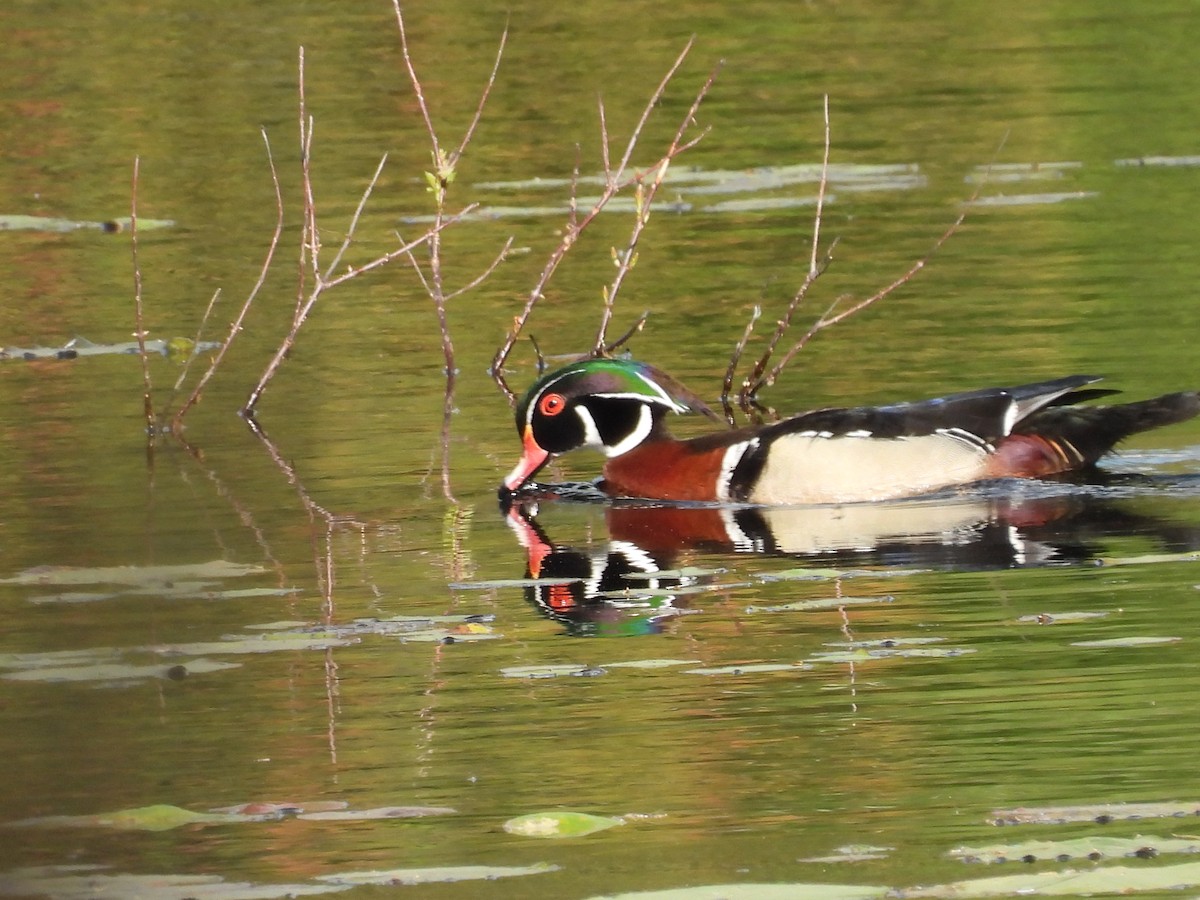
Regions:
<instances>
[{"instance_id":1,"label":"dark pointed tail of the swimming wood duck","mask_svg":"<svg viewBox=\"0 0 1200 900\"><path fill-rule=\"evenodd\" d=\"M1200 392L1180 391L1111 407L1048 407L1020 422L1013 433L1051 440L1060 451L1078 458L1078 466L1091 466L1130 434L1196 415Z\"/></svg>"}]
</instances>

